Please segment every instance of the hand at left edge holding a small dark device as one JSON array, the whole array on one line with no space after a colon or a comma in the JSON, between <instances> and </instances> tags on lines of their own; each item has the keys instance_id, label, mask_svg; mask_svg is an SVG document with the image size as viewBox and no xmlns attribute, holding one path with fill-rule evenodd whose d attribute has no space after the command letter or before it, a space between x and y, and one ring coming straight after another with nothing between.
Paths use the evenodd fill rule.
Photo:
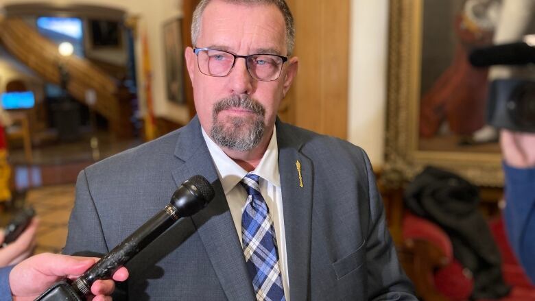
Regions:
<instances>
[{"instance_id":1,"label":"hand at left edge holding a small dark device","mask_svg":"<svg viewBox=\"0 0 535 301\"><path fill-rule=\"evenodd\" d=\"M0 249L0 267L20 263L34 252L37 225L38 219L34 217L16 241ZM3 239L3 231L0 231L0 243L3 242Z\"/></svg>"}]
</instances>

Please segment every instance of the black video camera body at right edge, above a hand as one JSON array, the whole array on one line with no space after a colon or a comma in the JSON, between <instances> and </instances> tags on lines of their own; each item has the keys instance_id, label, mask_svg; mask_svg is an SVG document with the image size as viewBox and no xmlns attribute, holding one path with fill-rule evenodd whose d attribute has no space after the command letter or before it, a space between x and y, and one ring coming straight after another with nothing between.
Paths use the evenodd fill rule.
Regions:
<instances>
[{"instance_id":1,"label":"black video camera body at right edge, above a hand","mask_svg":"<svg viewBox=\"0 0 535 301\"><path fill-rule=\"evenodd\" d=\"M535 82L514 78L490 82L486 118L496 128L535 132Z\"/></svg>"}]
</instances>

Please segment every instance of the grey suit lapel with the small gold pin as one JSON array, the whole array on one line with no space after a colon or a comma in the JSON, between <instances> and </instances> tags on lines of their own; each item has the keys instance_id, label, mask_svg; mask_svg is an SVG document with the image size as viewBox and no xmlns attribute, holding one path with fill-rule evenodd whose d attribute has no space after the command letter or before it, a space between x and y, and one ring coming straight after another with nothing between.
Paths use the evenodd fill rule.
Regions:
<instances>
[{"instance_id":1,"label":"grey suit lapel with the small gold pin","mask_svg":"<svg viewBox=\"0 0 535 301\"><path fill-rule=\"evenodd\" d=\"M300 139L277 121L278 169L281 173L290 300L308 300L312 215L312 162L299 152ZM300 178L296 162L299 162Z\"/></svg>"}]
</instances>

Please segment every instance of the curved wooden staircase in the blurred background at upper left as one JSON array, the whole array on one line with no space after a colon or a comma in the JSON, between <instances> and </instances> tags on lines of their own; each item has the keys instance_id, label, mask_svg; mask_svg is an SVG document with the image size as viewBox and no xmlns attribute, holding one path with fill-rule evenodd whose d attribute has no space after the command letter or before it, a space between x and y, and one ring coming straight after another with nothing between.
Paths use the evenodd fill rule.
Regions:
<instances>
[{"instance_id":1,"label":"curved wooden staircase in the blurred background at upper left","mask_svg":"<svg viewBox=\"0 0 535 301\"><path fill-rule=\"evenodd\" d=\"M97 95L93 109L108 120L110 131L118 137L131 136L129 99L121 99L124 93L119 93L117 81L108 74L83 58L62 58L55 43L19 18L0 21L0 43L47 82L60 84L62 62L69 72L69 94L86 106L85 93L93 89Z\"/></svg>"}]
</instances>

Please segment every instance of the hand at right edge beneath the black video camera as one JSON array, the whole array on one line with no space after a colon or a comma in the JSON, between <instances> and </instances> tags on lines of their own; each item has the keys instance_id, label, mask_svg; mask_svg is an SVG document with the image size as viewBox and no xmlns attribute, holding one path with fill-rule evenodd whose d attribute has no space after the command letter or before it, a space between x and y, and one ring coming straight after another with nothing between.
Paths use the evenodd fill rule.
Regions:
<instances>
[{"instance_id":1,"label":"hand at right edge beneath the black video camera","mask_svg":"<svg viewBox=\"0 0 535 301\"><path fill-rule=\"evenodd\" d=\"M535 167L535 134L500 132L501 153L506 163L516 168Z\"/></svg>"}]
</instances>

